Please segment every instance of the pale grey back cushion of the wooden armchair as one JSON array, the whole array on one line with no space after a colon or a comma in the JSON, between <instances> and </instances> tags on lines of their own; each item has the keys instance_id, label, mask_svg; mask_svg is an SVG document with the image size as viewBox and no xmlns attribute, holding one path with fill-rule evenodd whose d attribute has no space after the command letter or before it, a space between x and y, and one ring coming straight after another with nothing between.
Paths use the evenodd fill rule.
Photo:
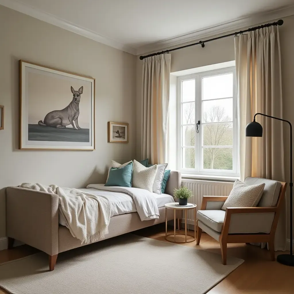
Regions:
<instances>
[{"instance_id":1,"label":"pale grey back cushion of the wooden armchair","mask_svg":"<svg viewBox=\"0 0 294 294\"><path fill-rule=\"evenodd\" d=\"M278 181L267 180L262 178L252 178L247 177L244 181L246 185L257 185L260 183L265 183L263 194L258 202L259 207L271 207L275 206L278 201L280 188L282 184Z\"/></svg>"}]
</instances>

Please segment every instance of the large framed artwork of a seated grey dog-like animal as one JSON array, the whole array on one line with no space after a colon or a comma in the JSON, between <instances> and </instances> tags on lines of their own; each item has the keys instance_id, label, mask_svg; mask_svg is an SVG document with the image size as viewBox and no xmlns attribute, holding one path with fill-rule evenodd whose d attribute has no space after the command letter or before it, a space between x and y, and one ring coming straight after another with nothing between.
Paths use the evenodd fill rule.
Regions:
<instances>
[{"instance_id":1,"label":"large framed artwork of a seated grey dog-like animal","mask_svg":"<svg viewBox=\"0 0 294 294\"><path fill-rule=\"evenodd\" d=\"M23 60L19 76L19 149L95 149L94 78Z\"/></svg>"}]
</instances>

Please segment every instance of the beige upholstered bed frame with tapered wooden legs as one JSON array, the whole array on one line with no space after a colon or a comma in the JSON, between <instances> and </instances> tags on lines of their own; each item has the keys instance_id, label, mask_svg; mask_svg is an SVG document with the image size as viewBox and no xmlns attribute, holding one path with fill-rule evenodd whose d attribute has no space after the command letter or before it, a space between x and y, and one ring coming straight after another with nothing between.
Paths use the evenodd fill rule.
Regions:
<instances>
[{"instance_id":1,"label":"beige upholstered bed frame with tapered wooden legs","mask_svg":"<svg viewBox=\"0 0 294 294\"><path fill-rule=\"evenodd\" d=\"M173 196L173 189L180 186L181 173L171 171L165 193ZM16 239L44 251L49 255L50 270L54 270L58 253L86 245L81 245L81 241L74 238L68 228L59 225L58 202L57 194L19 187L6 188L8 248L13 247ZM173 219L173 212L168 212L168 220ZM103 239L163 223L166 219L164 206L159 208L159 213L159 218L144 221L137 212L113 216L108 234Z\"/></svg>"}]
</instances>

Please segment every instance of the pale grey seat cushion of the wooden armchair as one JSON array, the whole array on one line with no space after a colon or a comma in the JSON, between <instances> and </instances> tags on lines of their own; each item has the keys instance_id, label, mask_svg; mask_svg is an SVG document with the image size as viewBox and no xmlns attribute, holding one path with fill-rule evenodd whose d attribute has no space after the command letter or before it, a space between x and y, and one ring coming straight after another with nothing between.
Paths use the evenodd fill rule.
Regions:
<instances>
[{"instance_id":1,"label":"pale grey seat cushion of the wooden armchair","mask_svg":"<svg viewBox=\"0 0 294 294\"><path fill-rule=\"evenodd\" d=\"M225 219L225 211L223 210L198 210L197 219L201 220L208 227L217 232L221 232L223 221Z\"/></svg>"}]
</instances>

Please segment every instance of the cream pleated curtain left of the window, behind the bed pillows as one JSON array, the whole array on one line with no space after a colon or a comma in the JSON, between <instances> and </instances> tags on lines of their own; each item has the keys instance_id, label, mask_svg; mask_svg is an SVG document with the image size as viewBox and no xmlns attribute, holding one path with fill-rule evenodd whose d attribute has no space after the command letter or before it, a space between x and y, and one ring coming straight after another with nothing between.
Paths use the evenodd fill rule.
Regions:
<instances>
[{"instance_id":1,"label":"cream pleated curtain left of the window, behind the bed pillows","mask_svg":"<svg viewBox=\"0 0 294 294\"><path fill-rule=\"evenodd\" d=\"M166 163L171 54L143 60L141 159Z\"/></svg>"}]
</instances>

